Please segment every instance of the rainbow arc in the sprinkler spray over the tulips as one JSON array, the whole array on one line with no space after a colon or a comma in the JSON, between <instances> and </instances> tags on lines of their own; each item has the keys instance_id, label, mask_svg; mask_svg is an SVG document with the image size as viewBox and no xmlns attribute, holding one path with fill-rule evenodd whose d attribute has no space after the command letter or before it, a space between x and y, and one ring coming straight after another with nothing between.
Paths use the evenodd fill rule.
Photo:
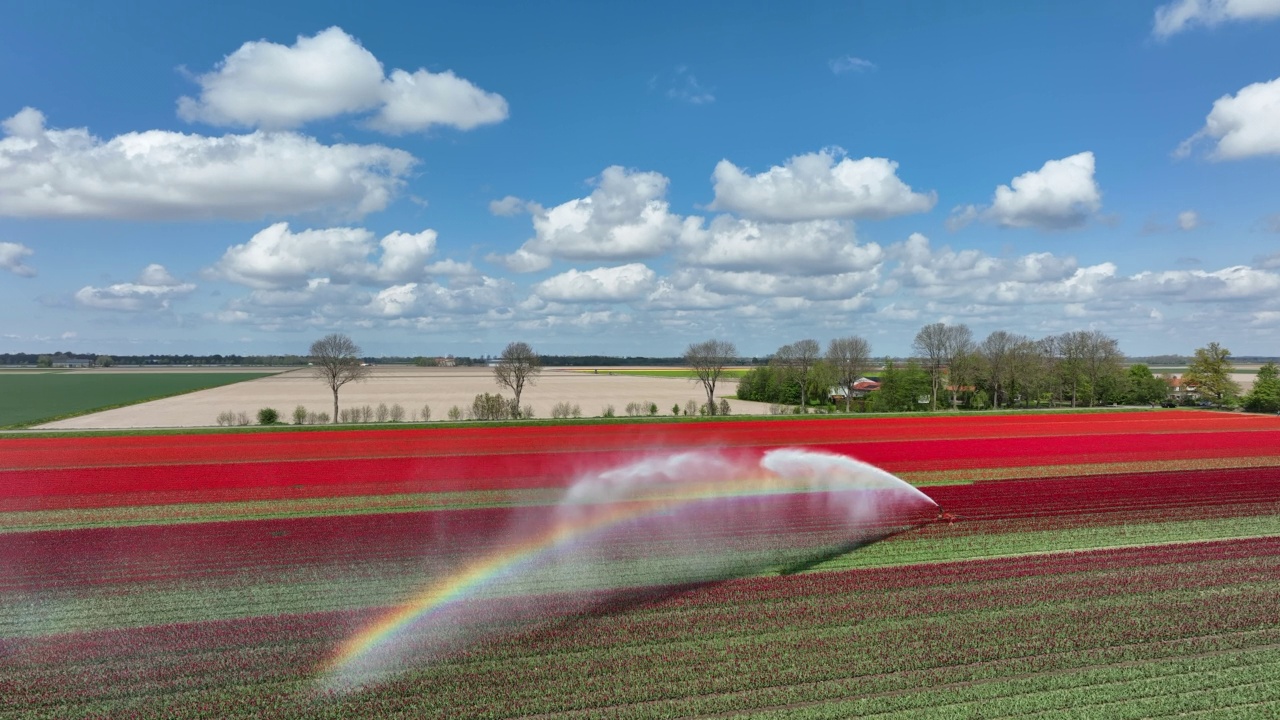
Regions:
<instances>
[{"instance_id":1,"label":"rainbow arc in the sprinkler spray over the tulips","mask_svg":"<svg viewBox=\"0 0 1280 720\"><path fill-rule=\"evenodd\" d=\"M780 452L780 451L773 451ZM792 451L796 452L796 451ZM823 457L818 454L804 455ZM826 456L833 457L833 456ZM864 465L847 457L838 457L838 461L851 462L860 469L873 470L870 477L861 475L861 482L846 479L841 487L831 487L832 483L822 483L815 487L812 478L781 477L774 473L753 474L745 478L717 479L712 482L681 483L678 486L658 484L636 497L630 496L621 501L599 505L581 505L580 512L568 512L543 532L524 538L517 543L474 560L451 575L443 577L428 585L421 593L408 602L388 611L367 628L344 642L320 671L334 676L353 667L362 657L375 650L387 646L401 630L436 614L451 605L474 596L495 579L509 575L526 566L536 564L547 556L570 547L571 544L589 538L602 530L622 525L625 523L643 520L645 518L662 514L671 514L689 509L696 503L713 502L728 498L764 497L787 493L813 493L829 489L870 489L888 488L893 483L900 488L910 488L902 480L869 465ZM759 470L755 470L759 473ZM786 474L786 473L785 473ZM870 480L870 482L868 482ZM888 483L886 483L888 480ZM911 488L914 491L914 488ZM916 491L918 493L918 491ZM928 500L920 495L922 498ZM932 502L932 501L929 501ZM575 507L575 506L570 506Z\"/></svg>"}]
</instances>

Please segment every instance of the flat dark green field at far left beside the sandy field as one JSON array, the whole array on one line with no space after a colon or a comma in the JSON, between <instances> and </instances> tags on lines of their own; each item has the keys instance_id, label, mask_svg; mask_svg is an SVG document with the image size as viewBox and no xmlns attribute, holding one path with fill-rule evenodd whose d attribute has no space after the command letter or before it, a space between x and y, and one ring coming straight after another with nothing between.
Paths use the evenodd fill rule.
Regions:
<instances>
[{"instance_id":1,"label":"flat dark green field at far left beside the sandy field","mask_svg":"<svg viewBox=\"0 0 1280 720\"><path fill-rule=\"evenodd\" d=\"M0 373L0 427L33 425L273 373Z\"/></svg>"}]
</instances>

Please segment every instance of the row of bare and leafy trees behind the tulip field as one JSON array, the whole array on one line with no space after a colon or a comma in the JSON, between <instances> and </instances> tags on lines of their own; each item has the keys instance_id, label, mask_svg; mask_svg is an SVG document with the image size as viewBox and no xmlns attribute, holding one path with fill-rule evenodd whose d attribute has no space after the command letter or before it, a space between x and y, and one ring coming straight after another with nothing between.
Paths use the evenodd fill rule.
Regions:
<instances>
[{"instance_id":1,"label":"row of bare and leafy trees behind the tulip field","mask_svg":"<svg viewBox=\"0 0 1280 720\"><path fill-rule=\"evenodd\" d=\"M911 345L915 357L896 364L886 357L878 370L870 343L859 336L835 338L826 352L817 340L800 340L780 347L768 364L751 369L739 380L737 397L805 407L812 400L827 402L833 387L844 392L845 411L851 410L854 384L877 374L881 387L870 393L865 410L936 410L940 398L950 407L1010 407L1107 405L1112 402L1157 404L1169 393L1166 378L1157 378L1147 365L1125 368L1115 338L1100 331L1074 331L1032 340L996 331L975 342L968 325L932 323L920 328ZM1231 380L1230 351L1211 342L1196 350L1185 373L1185 386L1196 387L1219 404L1239 395ZM317 377L333 391L333 418L338 421L338 392L362 380L370 368L361 360L360 346L334 333L311 345ZM708 340L691 343L685 364L707 392L707 413L716 415L716 389L726 369L737 363L732 342ZM541 372L541 363L526 342L512 342L493 366L494 382L511 389L512 416L520 416L521 396ZM1253 392L1244 398L1256 411L1280 410L1280 377L1274 363L1258 372Z\"/></svg>"}]
</instances>

